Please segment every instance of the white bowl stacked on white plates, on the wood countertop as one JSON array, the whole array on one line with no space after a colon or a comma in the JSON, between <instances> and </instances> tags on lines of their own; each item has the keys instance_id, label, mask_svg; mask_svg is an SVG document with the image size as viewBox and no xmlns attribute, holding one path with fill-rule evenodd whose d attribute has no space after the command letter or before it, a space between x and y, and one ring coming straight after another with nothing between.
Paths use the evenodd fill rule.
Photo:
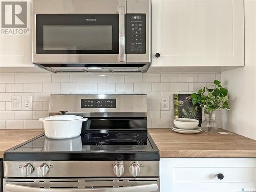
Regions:
<instances>
[{"instance_id":1,"label":"white bowl stacked on white plates, on the wood countertop","mask_svg":"<svg viewBox=\"0 0 256 192\"><path fill-rule=\"evenodd\" d=\"M202 128L198 126L199 120L188 118L176 118L174 119L174 125L172 130L178 133L194 134L202 131Z\"/></svg>"}]
</instances>

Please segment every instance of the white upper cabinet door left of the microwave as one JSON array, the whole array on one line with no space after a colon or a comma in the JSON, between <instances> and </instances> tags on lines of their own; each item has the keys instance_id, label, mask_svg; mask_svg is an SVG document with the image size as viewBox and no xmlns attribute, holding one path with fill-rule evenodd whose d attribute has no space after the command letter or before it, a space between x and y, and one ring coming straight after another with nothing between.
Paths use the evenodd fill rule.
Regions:
<instances>
[{"instance_id":1,"label":"white upper cabinet door left of the microwave","mask_svg":"<svg viewBox=\"0 0 256 192\"><path fill-rule=\"evenodd\" d=\"M28 15L31 13L31 0L26 1L28 4ZM14 5L13 5L14 7ZM17 7L15 7L16 11ZM19 9L17 9L19 11ZM22 11L24 11L22 9ZM11 12L12 13L12 12ZM9 16L9 14L8 14ZM10 17L10 16L9 16ZM15 16L16 19L16 16ZM31 18L27 18L29 35L17 34L0 34L0 67L33 67L31 54ZM14 33L16 28L14 29ZM4 30L4 28L2 28ZM9 28L7 28L9 30Z\"/></svg>"}]
</instances>

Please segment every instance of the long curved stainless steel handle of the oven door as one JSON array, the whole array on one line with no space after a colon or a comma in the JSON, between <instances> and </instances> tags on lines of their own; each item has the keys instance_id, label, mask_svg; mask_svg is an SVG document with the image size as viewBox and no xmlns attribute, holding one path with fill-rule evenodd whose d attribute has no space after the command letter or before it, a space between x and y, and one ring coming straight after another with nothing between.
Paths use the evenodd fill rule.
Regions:
<instances>
[{"instance_id":1,"label":"long curved stainless steel handle of the oven door","mask_svg":"<svg viewBox=\"0 0 256 192\"><path fill-rule=\"evenodd\" d=\"M147 185L135 185L129 187L118 187L118 188L92 188L92 189L67 189L67 188L38 188L38 187L29 187L23 185L16 185L7 183L5 185L5 191L7 192L153 192L158 190L158 185L147 184Z\"/></svg>"}]
</instances>

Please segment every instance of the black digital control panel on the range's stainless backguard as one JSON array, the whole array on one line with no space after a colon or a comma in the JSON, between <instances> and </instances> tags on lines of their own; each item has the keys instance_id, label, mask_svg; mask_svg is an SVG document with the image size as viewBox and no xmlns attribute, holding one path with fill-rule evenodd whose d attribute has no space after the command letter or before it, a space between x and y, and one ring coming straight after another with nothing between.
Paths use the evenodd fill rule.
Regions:
<instances>
[{"instance_id":1,"label":"black digital control panel on the range's stainless backguard","mask_svg":"<svg viewBox=\"0 0 256 192\"><path fill-rule=\"evenodd\" d=\"M116 99L81 99L81 108L116 108Z\"/></svg>"}]
</instances>

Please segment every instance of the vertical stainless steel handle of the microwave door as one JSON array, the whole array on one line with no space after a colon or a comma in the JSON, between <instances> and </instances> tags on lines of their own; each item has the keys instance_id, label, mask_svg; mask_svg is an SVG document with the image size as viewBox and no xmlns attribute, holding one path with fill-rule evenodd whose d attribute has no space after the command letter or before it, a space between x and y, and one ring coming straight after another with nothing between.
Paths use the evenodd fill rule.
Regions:
<instances>
[{"instance_id":1,"label":"vertical stainless steel handle of the microwave door","mask_svg":"<svg viewBox=\"0 0 256 192\"><path fill-rule=\"evenodd\" d=\"M125 8L119 7L119 61L125 61Z\"/></svg>"}]
</instances>

